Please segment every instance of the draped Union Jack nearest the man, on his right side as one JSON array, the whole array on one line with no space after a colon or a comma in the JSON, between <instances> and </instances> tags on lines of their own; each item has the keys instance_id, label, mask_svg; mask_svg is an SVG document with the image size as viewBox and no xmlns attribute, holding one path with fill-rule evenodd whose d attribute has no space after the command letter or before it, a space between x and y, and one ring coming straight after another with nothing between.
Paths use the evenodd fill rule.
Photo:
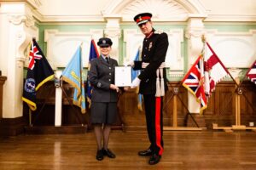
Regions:
<instances>
[{"instance_id":1,"label":"draped Union Jack nearest the man, on his right side","mask_svg":"<svg viewBox=\"0 0 256 170\"><path fill-rule=\"evenodd\" d=\"M200 113L207 108L207 96L204 90L204 65L202 55L196 59L188 73L182 80L183 87L187 88L200 103Z\"/></svg>"}]
</instances>

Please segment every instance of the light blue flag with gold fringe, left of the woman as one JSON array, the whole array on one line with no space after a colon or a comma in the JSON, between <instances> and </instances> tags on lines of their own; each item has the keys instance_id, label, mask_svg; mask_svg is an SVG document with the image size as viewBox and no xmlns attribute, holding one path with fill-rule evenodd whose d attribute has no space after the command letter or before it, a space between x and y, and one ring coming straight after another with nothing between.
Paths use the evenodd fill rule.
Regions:
<instances>
[{"instance_id":1,"label":"light blue flag with gold fringe, left of the woman","mask_svg":"<svg viewBox=\"0 0 256 170\"><path fill-rule=\"evenodd\" d=\"M67 67L62 72L62 79L73 86L73 104L79 106L81 108L81 112L85 113L86 105L84 80L82 77L82 63L82 52L81 47L79 46L75 54L73 54L73 58L69 61Z\"/></svg>"}]
</instances>

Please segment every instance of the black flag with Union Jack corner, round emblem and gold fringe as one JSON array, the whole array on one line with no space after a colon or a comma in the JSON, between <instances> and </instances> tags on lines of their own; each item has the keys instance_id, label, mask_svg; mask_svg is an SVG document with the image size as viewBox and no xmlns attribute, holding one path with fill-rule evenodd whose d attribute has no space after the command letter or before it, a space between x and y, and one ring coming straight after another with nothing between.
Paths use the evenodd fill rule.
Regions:
<instances>
[{"instance_id":1,"label":"black flag with Union Jack corner, round emblem and gold fringe","mask_svg":"<svg viewBox=\"0 0 256 170\"><path fill-rule=\"evenodd\" d=\"M53 79L55 73L34 38L32 39L30 46L26 82L24 84L23 96L21 99L26 102L32 111L36 111L36 92L45 82Z\"/></svg>"}]
</instances>

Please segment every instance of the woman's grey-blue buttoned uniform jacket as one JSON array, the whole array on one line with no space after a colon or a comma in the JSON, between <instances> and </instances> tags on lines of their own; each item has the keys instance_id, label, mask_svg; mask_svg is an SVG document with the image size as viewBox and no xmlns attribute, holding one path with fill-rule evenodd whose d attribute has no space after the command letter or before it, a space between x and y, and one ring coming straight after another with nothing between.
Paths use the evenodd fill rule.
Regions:
<instances>
[{"instance_id":1,"label":"woman's grey-blue buttoned uniform jacket","mask_svg":"<svg viewBox=\"0 0 256 170\"><path fill-rule=\"evenodd\" d=\"M110 89L114 84L114 67L117 60L109 58L109 64L102 55L90 61L89 81L92 86L92 102L117 102L117 92Z\"/></svg>"}]
</instances>

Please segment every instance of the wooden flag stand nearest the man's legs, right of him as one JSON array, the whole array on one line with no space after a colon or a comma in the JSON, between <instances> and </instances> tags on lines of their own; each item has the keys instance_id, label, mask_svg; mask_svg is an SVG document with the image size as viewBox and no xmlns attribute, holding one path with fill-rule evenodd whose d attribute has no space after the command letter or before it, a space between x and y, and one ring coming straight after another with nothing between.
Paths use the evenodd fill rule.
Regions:
<instances>
[{"instance_id":1,"label":"wooden flag stand nearest the man's legs, right of him","mask_svg":"<svg viewBox=\"0 0 256 170\"><path fill-rule=\"evenodd\" d=\"M169 103L169 101L173 98L173 115L172 115L172 127L167 127L164 126L163 130L189 130L189 131L201 131L203 129L205 129L205 127L199 127L197 122L195 121L194 117L191 115L191 113L189 112L188 107L184 104L183 100L178 96L178 90L181 86L181 83L179 83L179 85L175 88L171 88L171 93L172 96L167 100L166 103ZM183 107L187 110L187 116L191 116L193 122L195 122L196 127L178 127L177 126L177 99L180 100L180 102L182 103ZM164 108L165 109L165 108ZM163 110L164 110L163 109Z\"/></svg>"}]
</instances>

